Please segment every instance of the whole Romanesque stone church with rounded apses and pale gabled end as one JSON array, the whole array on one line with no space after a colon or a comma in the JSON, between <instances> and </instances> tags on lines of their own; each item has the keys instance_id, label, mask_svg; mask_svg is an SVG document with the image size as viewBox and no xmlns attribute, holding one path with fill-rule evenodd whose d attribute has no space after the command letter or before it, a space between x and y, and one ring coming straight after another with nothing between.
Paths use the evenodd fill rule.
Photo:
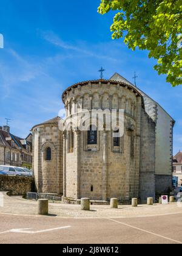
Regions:
<instances>
[{"instance_id":1,"label":"whole Romanesque stone church with rounded apses and pale gabled end","mask_svg":"<svg viewBox=\"0 0 182 256\"><path fill-rule=\"evenodd\" d=\"M66 119L53 118L32 128L33 171L41 193L129 202L172 188L174 119L152 98L114 74L109 80L79 82L62 93ZM75 108L76 105L76 108ZM124 110L124 133L90 126L66 127L83 110ZM87 127L88 128L88 127Z\"/></svg>"}]
</instances>

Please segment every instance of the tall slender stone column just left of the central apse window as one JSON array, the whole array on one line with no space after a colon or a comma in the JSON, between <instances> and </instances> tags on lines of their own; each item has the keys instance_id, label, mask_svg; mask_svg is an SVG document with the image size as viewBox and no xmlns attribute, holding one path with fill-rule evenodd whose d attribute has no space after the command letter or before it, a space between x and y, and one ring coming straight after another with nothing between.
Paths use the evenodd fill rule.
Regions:
<instances>
[{"instance_id":1,"label":"tall slender stone column just left of the central apse window","mask_svg":"<svg viewBox=\"0 0 182 256\"><path fill-rule=\"evenodd\" d=\"M76 136L76 199L80 198L80 154L81 154L81 132L75 131Z\"/></svg>"}]
</instances>

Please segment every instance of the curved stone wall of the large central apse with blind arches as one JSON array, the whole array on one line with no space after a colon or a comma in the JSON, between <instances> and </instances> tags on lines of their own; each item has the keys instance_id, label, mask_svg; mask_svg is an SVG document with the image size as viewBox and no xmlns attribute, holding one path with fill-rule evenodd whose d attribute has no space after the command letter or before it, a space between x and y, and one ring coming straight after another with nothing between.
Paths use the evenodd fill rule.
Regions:
<instances>
[{"instance_id":1,"label":"curved stone wall of the large central apse with blind arches","mask_svg":"<svg viewBox=\"0 0 182 256\"><path fill-rule=\"evenodd\" d=\"M117 197L121 201L129 200L133 196L138 197L140 159L138 135L140 135L142 107L140 96L118 84L89 83L67 92L65 96L67 118L76 113L75 104L79 111L82 108L124 109L123 149L113 147L110 131L98 132L97 145L87 145L87 132L83 131L80 133L78 143L76 139L78 135L74 131L74 150L70 153L67 134L65 196L75 199L90 197L95 200Z\"/></svg>"}]
</instances>

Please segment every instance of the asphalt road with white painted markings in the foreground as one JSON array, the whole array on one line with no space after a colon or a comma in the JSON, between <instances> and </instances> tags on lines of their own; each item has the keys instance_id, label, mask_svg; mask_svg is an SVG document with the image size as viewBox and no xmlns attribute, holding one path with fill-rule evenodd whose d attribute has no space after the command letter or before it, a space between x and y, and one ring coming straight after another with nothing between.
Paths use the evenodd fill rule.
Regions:
<instances>
[{"instance_id":1,"label":"asphalt road with white painted markings in the foreground","mask_svg":"<svg viewBox=\"0 0 182 256\"><path fill-rule=\"evenodd\" d=\"M182 215L128 219L0 215L0 243L178 244L182 243Z\"/></svg>"}]
</instances>

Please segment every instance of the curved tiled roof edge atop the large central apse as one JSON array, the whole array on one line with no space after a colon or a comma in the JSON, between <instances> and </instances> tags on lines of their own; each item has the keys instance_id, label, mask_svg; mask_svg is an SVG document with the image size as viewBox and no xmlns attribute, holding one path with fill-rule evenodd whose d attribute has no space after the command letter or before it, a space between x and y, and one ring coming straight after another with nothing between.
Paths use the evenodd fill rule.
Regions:
<instances>
[{"instance_id":1,"label":"curved tiled roof edge atop the large central apse","mask_svg":"<svg viewBox=\"0 0 182 256\"><path fill-rule=\"evenodd\" d=\"M124 79L124 77L123 77ZM73 84L71 85L69 88L67 88L63 93L62 93L62 102L64 102L64 95L67 94L67 91L72 90L72 88L77 88L79 86L84 86L87 84L108 84L108 83L112 83L112 84L120 84L120 86L123 87L127 87L129 90L133 90L134 93L136 93L136 96L140 96L143 99L143 96L141 95L141 93L136 89L136 87L134 87L132 84L129 83L129 81L127 81L126 79L124 80L113 80L113 79L98 79L98 80L88 80L88 81L84 81L84 82L79 82L77 84ZM64 102L65 103L65 102Z\"/></svg>"}]
</instances>

